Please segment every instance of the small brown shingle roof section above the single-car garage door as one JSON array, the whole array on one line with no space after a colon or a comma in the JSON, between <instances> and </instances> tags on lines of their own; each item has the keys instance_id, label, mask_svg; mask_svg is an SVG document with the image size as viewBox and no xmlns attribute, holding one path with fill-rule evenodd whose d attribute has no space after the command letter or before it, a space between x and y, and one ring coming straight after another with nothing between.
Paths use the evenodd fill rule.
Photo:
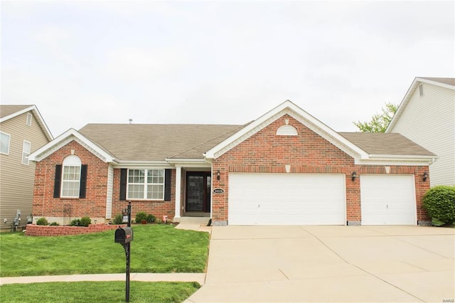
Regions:
<instances>
[{"instance_id":1,"label":"small brown shingle roof section above the single-car garage door","mask_svg":"<svg viewBox=\"0 0 455 303\"><path fill-rule=\"evenodd\" d=\"M339 132L338 134L368 154L436 156L402 134L382 132Z\"/></svg>"}]
</instances>

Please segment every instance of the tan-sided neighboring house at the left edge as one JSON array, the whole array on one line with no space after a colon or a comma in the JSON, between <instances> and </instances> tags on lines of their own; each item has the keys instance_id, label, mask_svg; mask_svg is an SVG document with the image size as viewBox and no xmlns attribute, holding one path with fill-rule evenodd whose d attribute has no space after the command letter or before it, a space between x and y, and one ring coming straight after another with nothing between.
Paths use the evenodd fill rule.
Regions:
<instances>
[{"instance_id":1,"label":"tan-sided neighboring house at the left edge","mask_svg":"<svg viewBox=\"0 0 455 303\"><path fill-rule=\"evenodd\" d=\"M36 166L27 156L52 140L35 105L0 105L0 231L11 230L18 210L27 223Z\"/></svg>"}]
</instances>

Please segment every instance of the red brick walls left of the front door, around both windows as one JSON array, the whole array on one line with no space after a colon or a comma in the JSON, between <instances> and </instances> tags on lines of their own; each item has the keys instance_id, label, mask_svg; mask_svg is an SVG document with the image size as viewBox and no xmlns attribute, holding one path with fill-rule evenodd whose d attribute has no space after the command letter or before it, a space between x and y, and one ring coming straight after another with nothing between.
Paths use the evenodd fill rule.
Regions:
<instances>
[{"instance_id":1,"label":"red brick walls left of the front door, around both windows","mask_svg":"<svg viewBox=\"0 0 455 303\"><path fill-rule=\"evenodd\" d=\"M75 154L82 164L87 164L87 191L85 198L53 198L55 165L62 164L66 156ZM35 186L33 193L33 218L60 218L60 224L69 224L74 218L88 216L97 218L97 223L105 223L108 188L108 166L97 156L73 141L61 147L42 161L37 162ZM175 179L175 169L171 178ZM175 213L175 181L171 182L171 199L169 201L131 200L132 218L139 211L153 214L156 218L168 216L173 218ZM127 208L128 201L120 201L120 169L114 169L112 218ZM57 220L57 219L55 219Z\"/></svg>"}]
</instances>

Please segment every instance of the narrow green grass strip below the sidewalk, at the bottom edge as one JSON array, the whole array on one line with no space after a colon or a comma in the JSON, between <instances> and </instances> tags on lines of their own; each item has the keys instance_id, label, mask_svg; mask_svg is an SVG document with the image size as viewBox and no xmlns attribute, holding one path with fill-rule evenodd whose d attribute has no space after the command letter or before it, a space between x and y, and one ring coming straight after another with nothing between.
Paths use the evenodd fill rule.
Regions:
<instances>
[{"instance_id":1,"label":"narrow green grass strip below the sidewalk, at the bottom edge","mask_svg":"<svg viewBox=\"0 0 455 303\"><path fill-rule=\"evenodd\" d=\"M197 282L132 281L130 302L183 302ZM0 287L1 302L125 302L125 282L53 282Z\"/></svg>"}]
</instances>

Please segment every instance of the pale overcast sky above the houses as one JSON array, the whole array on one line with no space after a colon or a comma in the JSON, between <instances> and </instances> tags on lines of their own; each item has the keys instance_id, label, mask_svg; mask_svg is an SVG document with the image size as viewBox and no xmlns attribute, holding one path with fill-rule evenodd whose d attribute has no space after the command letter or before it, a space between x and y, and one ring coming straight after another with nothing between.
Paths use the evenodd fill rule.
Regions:
<instances>
[{"instance_id":1,"label":"pale overcast sky above the houses","mask_svg":"<svg viewBox=\"0 0 455 303\"><path fill-rule=\"evenodd\" d=\"M291 100L355 131L455 77L454 1L1 1L1 104L87 123L244 124Z\"/></svg>"}]
</instances>

